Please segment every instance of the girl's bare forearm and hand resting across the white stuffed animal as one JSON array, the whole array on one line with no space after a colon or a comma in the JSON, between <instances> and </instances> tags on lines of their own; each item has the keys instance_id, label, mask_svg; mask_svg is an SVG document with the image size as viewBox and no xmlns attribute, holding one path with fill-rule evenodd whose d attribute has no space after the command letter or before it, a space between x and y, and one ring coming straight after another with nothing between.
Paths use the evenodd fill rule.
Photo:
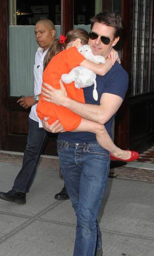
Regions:
<instances>
[{"instance_id":1,"label":"girl's bare forearm and hand resting across the white stuffed animal","mask_svg":"<svg viewBox=\"0 0 154 256\"><path fill-rule=\"evenodd\" d=\"M80 66L87 67L87 69L92 70L97 75L104 76L111 69L112 62L108 58L106 59L106 64L103 64L103 63L96 64L90 60L83 60L80 63Z\"/></svg>"}]
</instances>

